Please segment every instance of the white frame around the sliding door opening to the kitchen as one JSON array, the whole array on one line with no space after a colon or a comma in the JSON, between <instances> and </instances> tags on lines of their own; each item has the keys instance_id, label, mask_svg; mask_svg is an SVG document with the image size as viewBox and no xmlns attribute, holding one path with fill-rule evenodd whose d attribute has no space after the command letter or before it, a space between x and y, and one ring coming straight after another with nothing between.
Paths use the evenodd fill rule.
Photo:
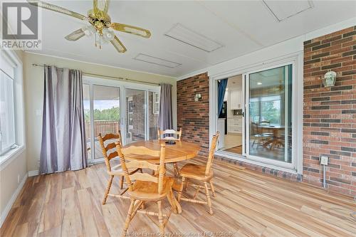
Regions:
<instances>
[{"instance_id":1,"label":"white frame around the sliding door opening to the kitchen","mask_svg":"<svg viewBox=\"0 0 356 237\"><path fill-rule=\"evenodd\" d=\"M298 51L295 53L290 53L286 56L281 56L278 58L273 58L270 60L265 60L263 62L253 63L251 65L246 65L241 68L233 68L226 70L222 73L216 75L209 74L209 140L211 142L212 136L217 131L217 98L218 98L218 88L216 80L221 80L224 78L230 78L235 75L243 75L243 88L245 89L246 74L252 73L254 71L258 72L261 70L266 70L268 68L277 68L278 65L288 65L293 64L293 105L295 105L293 111L293 137L292 137L292 156L294 159L293 166L283 166L280 164L275 164L269 162L261 162L261 160L246 159L246 153L243 154L232 154L231 152L216 151L216 155L221 157L227 157L229 159L236 159L241 162L246 162L250 164L256 164L263 167L268 167L271 169L278 169L284 172L290 172L293 174L303 174L303 51ZM246 100L246 91L243 91L244 98ZM246 111L246 101L244 105L244 112ZM246 112L245 112L246 115ZM243 126L243 135L246 135L246 129L248 126ZM245 137L243 137L243 146L246 147ZM211 145L211 144L210 144Z\"/></svg>"}]
</instances>

